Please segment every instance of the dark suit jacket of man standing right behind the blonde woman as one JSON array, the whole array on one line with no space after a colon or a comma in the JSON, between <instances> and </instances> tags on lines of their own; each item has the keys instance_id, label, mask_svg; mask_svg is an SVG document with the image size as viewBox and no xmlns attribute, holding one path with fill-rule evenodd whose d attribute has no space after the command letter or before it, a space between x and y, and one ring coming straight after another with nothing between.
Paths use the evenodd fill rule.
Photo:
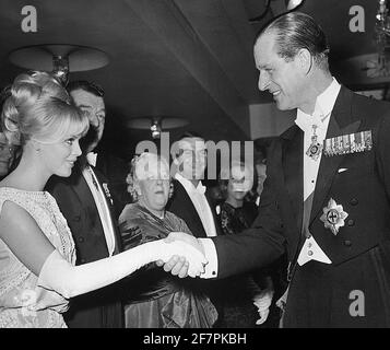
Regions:
<instances>
[{"instance_id":1,"label":"dark suit jacket of man standing right behind the blonde woman","mask_svg":"<svg viewBox=\"0 0 390 350\"><path fill-rule=\"evenodd\" d=\"M47 190L56 198L58 207L68 221L76 247L76 265L92 262L108 256L107 244L98 211L80 164L70 177L52 176ZM107 183L95 170L101 184ZM105 194L106 195L106 194ZM110 206L110 199L107 198ZM121 250L117 219L110 206L115 225L116 249ZM122 306L118 293L119 284L79 295L71 301L66 322L71 328L117 328L122 327Z\"/></svg>"}]
</instances>

